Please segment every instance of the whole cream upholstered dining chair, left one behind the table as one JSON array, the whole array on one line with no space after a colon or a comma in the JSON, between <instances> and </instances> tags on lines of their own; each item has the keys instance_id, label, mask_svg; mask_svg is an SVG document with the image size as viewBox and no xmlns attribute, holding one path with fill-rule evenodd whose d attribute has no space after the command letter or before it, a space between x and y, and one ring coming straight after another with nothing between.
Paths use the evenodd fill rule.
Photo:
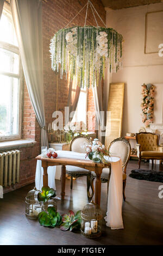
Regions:
<instances>
[{"instance_id":1,"label":"whole cream upholstered dining chair, left one behind the table","mask_svg":"<svg viewBox=\"0 0 163 256\"><path fill-rule=\"evenodd\" d=\"M70 151L78 153L86 153L86 145L92 144L92 139L86 135L78 135L74 137L70 143ZM91 172L77 166L66 166L66 174L71 177L71 190L73 186L73 178L87 176L87 184L90 184Z\"/></svg>"}]
</instances>

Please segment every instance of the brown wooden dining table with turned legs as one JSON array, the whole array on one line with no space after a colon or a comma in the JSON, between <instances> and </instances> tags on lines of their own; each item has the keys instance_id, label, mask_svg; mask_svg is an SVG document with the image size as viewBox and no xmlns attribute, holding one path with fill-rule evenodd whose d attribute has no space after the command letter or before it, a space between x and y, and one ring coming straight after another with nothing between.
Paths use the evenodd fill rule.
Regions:
<instances>
[{"instance_id":1,"label":"brown wooden dining table with turned legs","mask_svg":"<svg viewBox=\"0 0 163 256\"><path fill-rule=\"evenodd\" d=\"M96 173L96 185L95 185L95 203L100 205L101 203L101 174L103 168L110 167L110 163L95 163L91 160L78 160L69 159L64 157L57 157L56 159L43 158L41 155L36 157L36 160L41 160L43 167L43 186L48 186L48 166L61 165L61 199L65 199L65 182L66 182L66 166L77 166Z\"/></svg>"}]
</instances>

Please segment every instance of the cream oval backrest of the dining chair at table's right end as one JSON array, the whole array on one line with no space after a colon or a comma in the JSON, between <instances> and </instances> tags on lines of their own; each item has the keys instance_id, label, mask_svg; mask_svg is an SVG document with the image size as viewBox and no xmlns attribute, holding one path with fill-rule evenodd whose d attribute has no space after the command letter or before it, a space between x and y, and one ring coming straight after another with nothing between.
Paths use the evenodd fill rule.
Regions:
<instances>
[{"instance_id":1,"label":"cream oval backrest of the dining chair at table's right end","mask_svg":"<svg viewBox=\"0 0 163 256\"><path fill-rule=\"evenodd\" d=\"M127 166L130 158L131 146L126 138L117 138L112 141L108 147L108 152L113 156L120 156L122 160L122 166Z\"/></svg>"}]
</instances>

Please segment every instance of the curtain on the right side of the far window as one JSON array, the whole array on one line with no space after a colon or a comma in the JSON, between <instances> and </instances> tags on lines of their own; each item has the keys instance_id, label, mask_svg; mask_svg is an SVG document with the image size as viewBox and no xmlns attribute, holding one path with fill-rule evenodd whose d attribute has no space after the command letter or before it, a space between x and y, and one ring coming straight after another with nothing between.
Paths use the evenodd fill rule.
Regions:
<instances>
[{"instance_id":1,"label":"curtain on the right side of the far window","mask_svg":"<svg viewBox=\"0 0 163 256\"><path fill-rule=\"evenodd\" d=\"M108 65L109 66L109 65ZM105 126L106 126L106 111L108 109L109 100L109 85L111 81L111 74L109 68L106 67L105 79L103 83L103 93L102 93L102 81L98 82L98 86L92 87L93 99L95 103L96 120L98 124L98 134L97 137L99 141L103 144L105 143Z\"/></svg>"}]
</instances>

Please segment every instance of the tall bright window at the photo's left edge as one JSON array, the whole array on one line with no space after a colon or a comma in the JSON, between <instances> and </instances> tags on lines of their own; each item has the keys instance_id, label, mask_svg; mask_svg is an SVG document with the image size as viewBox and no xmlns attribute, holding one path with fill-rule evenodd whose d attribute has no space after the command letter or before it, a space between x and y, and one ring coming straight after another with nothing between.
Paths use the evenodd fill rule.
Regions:
<instances>
[{"instance_id":1,"label":"tall bright window at the photo's left edge","mask_svg":"<svg viewBox=\"0 0 163 256\"><path fill-rule=\"evenodd\" d=\"M20 54L8 5L0 21L0 140L20 138Z\"/></svg>"}]
</instances>

